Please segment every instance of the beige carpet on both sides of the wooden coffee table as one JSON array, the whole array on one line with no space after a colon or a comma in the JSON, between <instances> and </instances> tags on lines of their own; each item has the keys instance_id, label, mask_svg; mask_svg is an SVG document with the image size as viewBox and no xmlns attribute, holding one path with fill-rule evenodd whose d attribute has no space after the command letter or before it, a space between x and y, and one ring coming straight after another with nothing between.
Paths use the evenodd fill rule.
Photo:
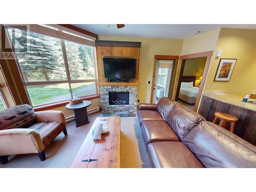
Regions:
<instances>
[{"instance_id":1,"label":"beige carpet on both sides of the wooden coffee table","mask_svg":"<svg viewBox=\"0 0 256 192\"><path fill-rule=\"evenodd\" d=\"M92 123L102 113L89 115L90 124L75 127L68 123L68 136L63 133L46 148L46 160L37 154L8 156L9 162L0 168L65 168L70 167ZM121 118L121 167L151 167L137 118Z\"/></svg>"}]
</instances>

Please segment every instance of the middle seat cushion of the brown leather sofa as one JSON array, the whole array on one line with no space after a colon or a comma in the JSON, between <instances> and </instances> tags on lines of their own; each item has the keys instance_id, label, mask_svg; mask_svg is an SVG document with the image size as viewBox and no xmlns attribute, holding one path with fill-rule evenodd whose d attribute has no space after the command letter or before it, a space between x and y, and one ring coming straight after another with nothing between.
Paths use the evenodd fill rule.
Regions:
<instances>
[{"instance_id":1,"label":"middle seat cushion of the brown leather sofa","mask_svg":"<svg viewBox=\"0 0 256 192\"><path fill-rule=\"evenodd\" d=\"M141 131L146 145L158 141L180 141L165 121L143 121Z\"/></svg>"}]
</instances>

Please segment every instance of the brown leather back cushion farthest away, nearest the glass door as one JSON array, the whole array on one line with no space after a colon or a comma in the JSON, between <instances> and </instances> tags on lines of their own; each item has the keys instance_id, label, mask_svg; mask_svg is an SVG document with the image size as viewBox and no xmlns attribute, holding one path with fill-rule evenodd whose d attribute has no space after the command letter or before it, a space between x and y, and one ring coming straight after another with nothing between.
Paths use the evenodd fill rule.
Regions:
<instances>
[{"instance_id":1,"label":"brown leather back cushion farthest away, nearest the glass door","mask_svg":"<svg viewBox=\"0 0 256 192\"><path fill-rule=\"evenodd\" d=\"M157 103L157 111L165 120L170 111L172 111L177 104L178 102L176 101L170 100L167 97L162 97Z\"/></svg>"}]
</instances>

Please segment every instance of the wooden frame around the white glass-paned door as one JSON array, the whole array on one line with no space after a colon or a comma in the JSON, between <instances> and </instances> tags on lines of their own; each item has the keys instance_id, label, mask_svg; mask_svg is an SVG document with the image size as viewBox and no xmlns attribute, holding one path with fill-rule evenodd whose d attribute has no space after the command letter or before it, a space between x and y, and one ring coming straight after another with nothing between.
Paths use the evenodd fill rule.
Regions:
<instances>
[{"instance_id":1,"label":"wooden frame around the white glass-paned door","mask_svg":"<svg viewBox=\"0 0 256 192\"><path fill-rule=\"evenodd\" d=\"M155 55L154 57L154 66L153 66L153 75L152 75L152 86L151 86L151 99L150 102L153 103L153 97L154 97L154 89L155 89L155 77L156 77L156 66L157 66L157 60L174 60L173 63L173 78L172 83L170 83L170 86L172 86L170 90L170 97L172 96L172 92L174 90L174 79L176 77L176 71L177 71L177 65L179 61L178 55Z\"/></svg>"}]
</instances>

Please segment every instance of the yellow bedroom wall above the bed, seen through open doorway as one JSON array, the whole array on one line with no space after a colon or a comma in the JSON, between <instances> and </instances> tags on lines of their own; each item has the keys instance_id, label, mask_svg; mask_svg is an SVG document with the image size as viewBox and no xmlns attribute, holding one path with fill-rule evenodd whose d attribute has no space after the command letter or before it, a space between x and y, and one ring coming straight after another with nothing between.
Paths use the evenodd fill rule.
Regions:
<instances>
[{"instance_id":1,"label":"yellow bedroom wall above the bed, seen through open doorway","mask_svg":"<svg viewBox=\"0 0 256 192\"><path fill-rule=\"evenodd\" d=\"M207 57L187 59L185 61L183 76L202 76Z\"/></svg>"}]
</instances>

